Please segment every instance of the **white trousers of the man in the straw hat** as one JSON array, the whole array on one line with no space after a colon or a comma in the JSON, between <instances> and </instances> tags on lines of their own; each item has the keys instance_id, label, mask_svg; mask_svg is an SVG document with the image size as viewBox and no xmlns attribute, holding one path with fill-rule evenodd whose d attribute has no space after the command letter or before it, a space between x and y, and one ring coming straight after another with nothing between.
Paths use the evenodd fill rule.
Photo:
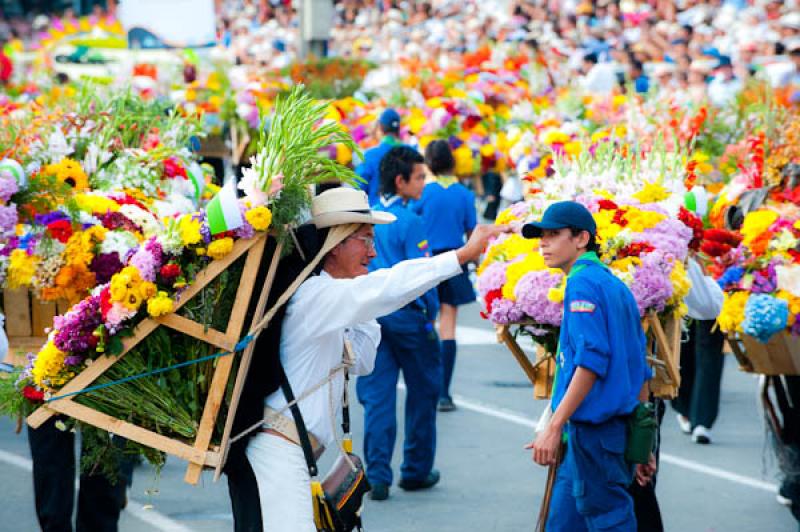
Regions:
<instances>
[{"instance_id":1,"label":"white trousers of the man in the straw hat","mask_svg":"<svg viewBox=\"0 0 800 532\"><path fill-rule=\"evenodd\" d=\"M303 449L260 432L247 446L247 459L258 482L264 532L316 532Z\"/></svg>"}]
</instances>

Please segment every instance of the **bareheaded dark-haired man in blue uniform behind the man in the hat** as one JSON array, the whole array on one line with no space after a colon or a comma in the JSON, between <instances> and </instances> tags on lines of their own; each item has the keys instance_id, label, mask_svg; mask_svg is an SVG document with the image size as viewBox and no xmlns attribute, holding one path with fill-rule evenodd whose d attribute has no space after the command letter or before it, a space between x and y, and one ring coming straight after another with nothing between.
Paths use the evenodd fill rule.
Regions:
<instances>
[{"instance_id":1,"label":"bareheaded dark-haired man in blue uniform behind the man in the hat","mask_svg":"<svg viewBox=\"0 0 800 532\"><path fill-rule=\"evenodd\" d=\"M422 218L408 207L425 185L422 156L408 146L390 150L381 163L382 193L373 207L395 215L397 221L375 226L377 257L370 271L429 256ZM430 488L439 481L433 469L436 452L436 403L442 382L439 341L433 329L439 301L436 289L400 310L378 319L381 343L372 374L359 377L358 399L364 405L364 458L371 497L385 500L392 483L392 452L397 434L397 379L403 370L406 395L405 444L399 486Z\"/></svg>"}]
</instances>

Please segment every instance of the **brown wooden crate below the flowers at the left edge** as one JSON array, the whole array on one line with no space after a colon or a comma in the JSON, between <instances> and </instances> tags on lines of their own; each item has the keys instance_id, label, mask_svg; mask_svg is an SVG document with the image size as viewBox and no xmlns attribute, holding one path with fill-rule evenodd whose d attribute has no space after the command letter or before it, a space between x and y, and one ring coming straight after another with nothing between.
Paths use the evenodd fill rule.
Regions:
<instances>
[{"instance_id":1,"label":"brown wooden crate below the flowers at the left edge","mask_svg":"<svg viewBox=\"0 0 800 532\"><path fill-rule=\"evenodd\" d=\"M38 351L45 341L45 329L53 326L53 317L69 308L66 301L40 301L27 288L3 290L3 314L6 317L8 354L6 364L24 366L29 352Z\"/></svg>"}]
</instances>

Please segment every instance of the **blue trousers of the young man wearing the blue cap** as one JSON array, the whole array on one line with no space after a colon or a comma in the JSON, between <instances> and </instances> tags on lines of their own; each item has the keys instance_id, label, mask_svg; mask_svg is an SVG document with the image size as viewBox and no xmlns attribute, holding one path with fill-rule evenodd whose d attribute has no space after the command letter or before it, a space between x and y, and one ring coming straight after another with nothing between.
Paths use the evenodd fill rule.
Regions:
<instances>
[{"instance_id":1,"label":"blue trousers of the young man wearing the blue cap","mask_svg":"<svg viewBox=\"0 0 800 532\"><path fill-rule=\"evenodd\" d=\"M622 418L567 424L567 453L553 487L547 532L636 532L626 429Z\"/></svg>"}]
</instances>

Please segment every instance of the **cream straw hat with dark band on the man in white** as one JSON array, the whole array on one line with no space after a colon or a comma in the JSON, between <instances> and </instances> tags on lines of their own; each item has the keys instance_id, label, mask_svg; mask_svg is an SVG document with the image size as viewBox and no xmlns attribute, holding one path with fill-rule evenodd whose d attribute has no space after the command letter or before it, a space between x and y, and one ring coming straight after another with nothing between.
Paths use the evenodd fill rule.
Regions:
<instances>
[{"instance_id":1,"label":"cream straw hat with dark band on the man in white","mask_svg":"<svg viewBox=\"0 0 800 532\"><path fill-rule=\"evenodd\" d=\"M390 224L397 219L391 213L370 210L364 191L346 187L332 188L315 197L311 217L317 229L343 224Z\"/></svg>"}]
</instances>

